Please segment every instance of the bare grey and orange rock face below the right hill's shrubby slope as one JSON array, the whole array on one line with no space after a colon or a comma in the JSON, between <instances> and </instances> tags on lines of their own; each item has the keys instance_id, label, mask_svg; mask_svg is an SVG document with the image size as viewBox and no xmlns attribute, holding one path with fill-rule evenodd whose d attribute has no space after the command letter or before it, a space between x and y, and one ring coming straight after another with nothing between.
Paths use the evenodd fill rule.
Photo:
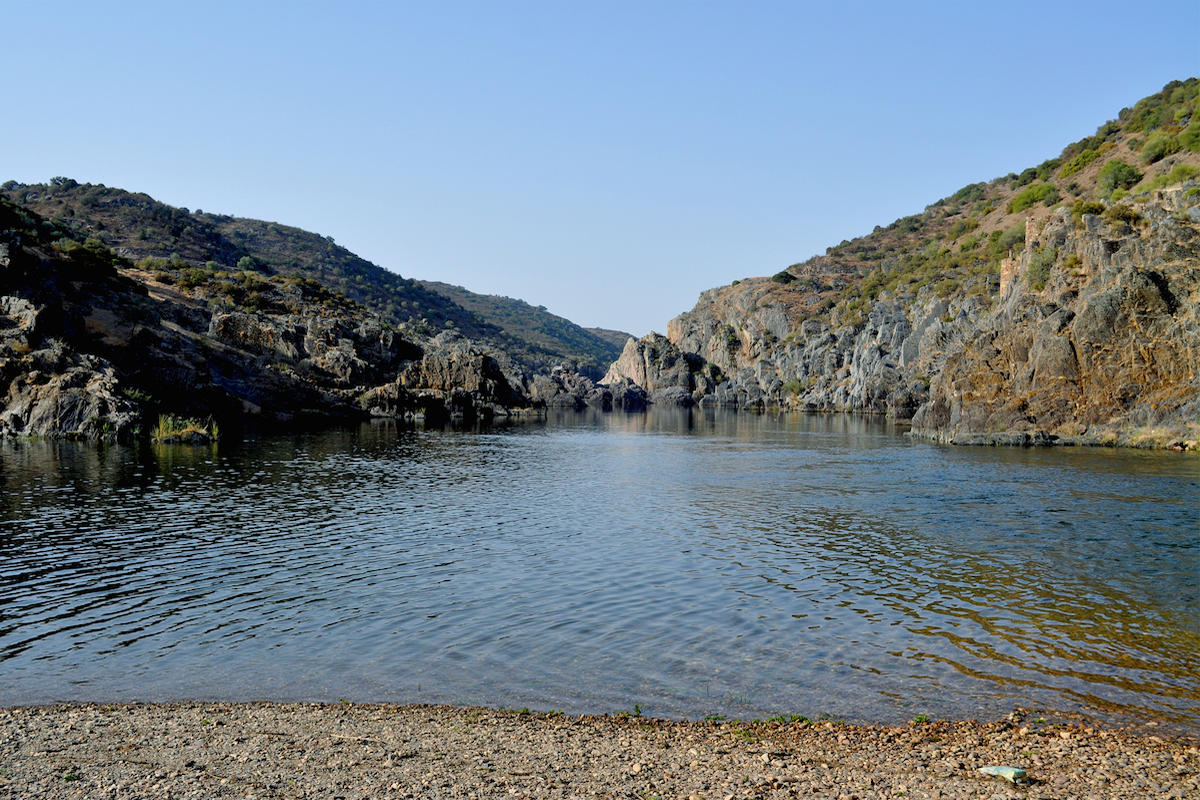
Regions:
<instances>
[{"instance_id":1,"label":"bare grey and orange rock face below the right hill's shrubby slope","mask_svg":"<svg viewBox=\"0 0 1200 800\"><path fill-rule=\"evenodd\" d=\"M1058 209L983 290L884 293L857 318L812 317L767 278L712 289L606 381L652 402L888 414L955 444L1194 441L1198 199L1184 185L1104 217Z\"/></svg>"}]
</instances>

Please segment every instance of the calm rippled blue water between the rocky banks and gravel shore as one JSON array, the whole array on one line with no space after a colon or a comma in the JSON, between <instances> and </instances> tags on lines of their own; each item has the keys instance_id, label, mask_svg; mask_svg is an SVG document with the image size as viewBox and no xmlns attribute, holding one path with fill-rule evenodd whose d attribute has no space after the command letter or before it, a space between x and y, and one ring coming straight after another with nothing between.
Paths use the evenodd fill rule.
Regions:
<instances>
[{"instance_id":1,"label":"calm rippled blue water between the rocky banks and gravel shore","mask_svg":"<svg viewBox=\"0 0 1200 800\"><path fill-rule=\"evenodd\" d=\"M0 444L0 704L1200 729L1200 459L664 411Z\"/></svg>"}]
</instances>

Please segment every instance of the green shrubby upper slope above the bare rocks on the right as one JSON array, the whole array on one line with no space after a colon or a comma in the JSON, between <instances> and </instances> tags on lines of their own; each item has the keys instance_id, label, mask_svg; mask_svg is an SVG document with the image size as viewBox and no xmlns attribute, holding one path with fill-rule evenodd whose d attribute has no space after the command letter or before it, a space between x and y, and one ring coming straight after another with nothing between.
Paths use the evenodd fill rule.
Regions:
<instances>
[{"instance_id":1,"label":"green shrubby upper slope above the bare rocks on the right","mask_svg":"<svg viewBox=\"0 0 1200 800\"><path fill-rule=\"evenodd\" d=\"M792 320L859 324L884 293L941 297L1000 290L1002 260L1025 245L1025 221L1055 209L1134 219L1133 205L1200 176L1200 80L1171 82L1093 136L1020 173L964 186L920 213L827 248L772 276ZM1031 278L1036 288L1040 271ZM1044 285L1044 283L1043 283Z\"/></svg>"}]
</instances>

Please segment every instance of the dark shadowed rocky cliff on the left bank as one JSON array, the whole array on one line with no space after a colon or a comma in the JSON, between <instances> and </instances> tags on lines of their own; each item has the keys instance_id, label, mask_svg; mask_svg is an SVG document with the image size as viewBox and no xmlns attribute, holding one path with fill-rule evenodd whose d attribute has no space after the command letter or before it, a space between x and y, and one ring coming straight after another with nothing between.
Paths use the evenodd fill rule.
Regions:
<instances>
[{"instance_id":1,"label":"dark shadowed rocky cliff on the left bank","mask_svg":"<svg viewBox=\"0 0 1200 800\"><path fill-rule=\"evenodd\" d=\"M144 435L367 416L494 416L530 402L503 354L382 323L314 281L133 267L0 200L0 435ZM510 365L508 365L510 366Z\"/></svg>"}]
</instances>

